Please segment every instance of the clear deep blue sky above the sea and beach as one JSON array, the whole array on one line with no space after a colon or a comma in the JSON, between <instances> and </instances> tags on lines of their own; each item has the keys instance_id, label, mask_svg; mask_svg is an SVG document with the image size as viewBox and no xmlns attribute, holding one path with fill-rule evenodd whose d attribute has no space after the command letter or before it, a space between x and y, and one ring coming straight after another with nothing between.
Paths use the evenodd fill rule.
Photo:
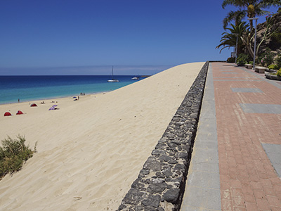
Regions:
<instances>
[{"instance_id":1,"label":"clear deep blue sky above the sea and beach","mask_svg":"<svg viewBox=\"0 0 281 211\"><path fill-rule=\"evenodd\" d=\"M221 8L221 2L1 0L0 75L71 72L58 67L95 74L103 65L106 75L110 65L163 68L226 60L233 49L219 53L215 47L232 8Z\"/></svg>"}]
</instances>

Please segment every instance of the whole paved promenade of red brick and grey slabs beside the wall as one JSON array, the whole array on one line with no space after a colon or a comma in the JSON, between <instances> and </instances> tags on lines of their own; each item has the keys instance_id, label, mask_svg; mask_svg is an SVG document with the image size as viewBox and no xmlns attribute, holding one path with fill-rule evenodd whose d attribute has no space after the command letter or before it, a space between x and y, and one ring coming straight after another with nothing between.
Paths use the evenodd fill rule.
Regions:
<instances>
[{"instance_id":1,"label":"whole paved promenade of red brick and grey slabs beside the wall","mask_svg":"<svg viewBox=\"0 0 281 211\"><path fill-rule=\"evenodd\" d=\"M182 211L281 211L281 83L211 63Z\"/></svg>"}]
</instances>

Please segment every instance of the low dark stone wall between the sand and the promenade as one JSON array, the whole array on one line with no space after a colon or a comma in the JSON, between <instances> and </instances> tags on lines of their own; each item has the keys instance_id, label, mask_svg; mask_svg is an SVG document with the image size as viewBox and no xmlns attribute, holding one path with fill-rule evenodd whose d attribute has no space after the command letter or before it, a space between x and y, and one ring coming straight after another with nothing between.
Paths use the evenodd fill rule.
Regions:
<instances>
[{"instance_id":1,"label":"low dark stone wall between the sand and the promenade","mask_svg":"<svg viewBox=\"0 0 281 211\"><path fill-rule=\"evenodd\" d=\"M203 65L118 210L180 210L208 68L209 61Z\"/></svg>"}]
</instances>

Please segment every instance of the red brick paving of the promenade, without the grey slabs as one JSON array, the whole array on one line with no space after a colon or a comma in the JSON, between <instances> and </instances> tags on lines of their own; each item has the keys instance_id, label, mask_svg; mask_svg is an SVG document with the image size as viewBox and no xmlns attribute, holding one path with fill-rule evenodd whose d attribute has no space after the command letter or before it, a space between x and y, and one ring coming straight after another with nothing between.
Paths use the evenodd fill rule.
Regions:
<instances>
[{"instance_id":1,"label":"red brick paving of the promenade, without the grey slabs","mask_svg":"<svg viewBox=\"0 0 281 211\"><path fill-rule=\"evenodd\" d=\"M211 67L221 209L281 210L281 180L261 145L281 144L281 114L244 113L240 107L240 103L281 105L281 91L257 74L234 65L212 63ZM231 88L256 88L262 92L234 92Z\"/></svg>"}]
</instances>

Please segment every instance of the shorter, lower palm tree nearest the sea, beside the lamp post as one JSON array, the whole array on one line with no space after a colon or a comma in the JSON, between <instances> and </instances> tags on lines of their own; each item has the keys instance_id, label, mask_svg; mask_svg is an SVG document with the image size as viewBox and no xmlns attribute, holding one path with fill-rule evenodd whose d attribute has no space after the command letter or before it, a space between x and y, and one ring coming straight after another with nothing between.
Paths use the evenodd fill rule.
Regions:
<instances>
[{"instance_id":1,"label":"shorter, lower palm tree nearest the sea, beside the lamp post","mask_svg":"<svg viewBox=\"0 0 281 211\"><path fill-rule=\"evenodd\" d=\"M236 39L237 39L237 55L239 55L240 53L242 53L244 51L244 43L243 43L243 36L244 34L246 34L247 32L249 32L249 24L246 24L246 22L241 22L238 25L233 25L231 24L232 28L226 28L226 30L229 30L229 32L223 32L223 37L221 37L221 44L219 44L218 46L216 46L216 49L219 49L221 47L223 47L221 49L221 51L223 49L230 49L230 47L234 47L236 46ZM238 34L238 35L237 35ZM220 53L221 53L220 51Z\"/></svg>"}]
</instances>

